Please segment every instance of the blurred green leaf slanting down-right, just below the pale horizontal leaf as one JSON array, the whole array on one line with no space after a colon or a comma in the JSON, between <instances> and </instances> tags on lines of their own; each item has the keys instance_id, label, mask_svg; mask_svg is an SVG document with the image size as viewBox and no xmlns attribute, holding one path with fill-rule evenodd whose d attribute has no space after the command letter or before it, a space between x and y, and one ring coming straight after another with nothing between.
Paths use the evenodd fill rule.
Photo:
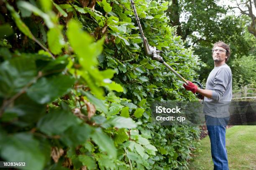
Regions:
<instances>
[{"instance_id":1,"label":"blurred green leaf slanting down-right, just below the pale horizontal leaf","mask_svg":"<svg viewBox=\"0 0 256 170\"><path fill-rule=\"evenodd\" d=\"M113 140L102 132L100 128L95 129L92 133L92 140L99 146L100 150L107 152L109 157L116 159L117 150L114 146Z\"/></svg>"}]
</instances>

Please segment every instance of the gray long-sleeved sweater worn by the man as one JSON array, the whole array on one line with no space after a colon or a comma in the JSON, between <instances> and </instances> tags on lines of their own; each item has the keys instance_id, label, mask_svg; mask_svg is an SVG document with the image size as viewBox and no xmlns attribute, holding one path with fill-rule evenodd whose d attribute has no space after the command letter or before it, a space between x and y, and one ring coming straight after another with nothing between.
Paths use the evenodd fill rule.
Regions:
<instances>
[{"instance_id":1,"label":"gray long-sleeved sweater worn by the man","mask_svg":"<svg viewBox=\"0 0 256 170\"><path fill-rule=\"evenodd\" d=\"M204 113L212 117L228 117L232 99L232 72L227 64L214 67L206 81L206 90L212 90L212 98L204 98Z\"/></svg>"}]
</instances>

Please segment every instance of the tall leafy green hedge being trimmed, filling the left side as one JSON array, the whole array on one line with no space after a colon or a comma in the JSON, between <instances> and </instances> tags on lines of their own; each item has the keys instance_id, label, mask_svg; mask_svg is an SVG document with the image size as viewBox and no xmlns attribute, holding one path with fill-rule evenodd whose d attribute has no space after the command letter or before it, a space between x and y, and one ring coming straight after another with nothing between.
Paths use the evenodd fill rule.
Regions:
<instances>
[{"instance_id":1,"label":"tall leafy green hedge being trimmed, filling the left side","mask_svg":"<svg viewBox=\"0 0 256 170\"><path fill-rule=\"evenodd\" d=\"M149 44L197 78L200 60L168 25L168 2L135 3ZM198 128L160 126L150 102L195 96L145 56L130 1L5 2L0 21L2 160L24 170L187 169Z\"/></svg>"}]
</instances>

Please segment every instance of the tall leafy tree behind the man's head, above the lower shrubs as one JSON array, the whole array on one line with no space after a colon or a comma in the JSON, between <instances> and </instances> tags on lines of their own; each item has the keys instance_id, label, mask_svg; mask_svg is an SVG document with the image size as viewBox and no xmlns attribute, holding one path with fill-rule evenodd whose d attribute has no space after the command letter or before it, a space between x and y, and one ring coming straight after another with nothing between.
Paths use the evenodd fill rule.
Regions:
<instances>
[{"instance_id":1,"label":"tall leafy tree behind the man's head, above the lower shrubs","mask_svg":"<svg viewBox=\"0 0 256 170\"><path fill-rule=\"evenodd\" d=\"M218 0L172 0L167 15L170 25L177 26L177 35L186 40L187 47L193 47L195 54L202 60L198 73L200 80L212 70L212 45L222 40L230 44L231 62L236 57L248 56L253 52L255 38L248 38L245 31L248 18L228 15L230 8L218 5ZM234 75L234 77L237 77Z\"/></svg>"}]
</instances>

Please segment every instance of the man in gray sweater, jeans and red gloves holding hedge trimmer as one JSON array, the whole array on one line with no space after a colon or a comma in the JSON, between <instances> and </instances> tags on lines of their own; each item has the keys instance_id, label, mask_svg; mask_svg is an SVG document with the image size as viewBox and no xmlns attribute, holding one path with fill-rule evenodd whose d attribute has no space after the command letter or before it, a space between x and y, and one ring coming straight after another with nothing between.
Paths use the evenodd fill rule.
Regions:
<instances>
[{"instance_id":1,"label":"man in gray sweater, jeans and red gloves holding hedge trimmer","mask_svg":"<svg viewBox=\"0 0 256 170\"><path fill-rule=\"evenodd\" d=\"M232 73L226 64L230 57L230 47L222 41L212 48L214 69L210 72L206 87L198 89L189 81L183 86L193 93L204 96L204 113L211 142L214 170L228 170L228 154L225 146L225 125L229 120L228 105L232 99Z\"/></svg>"}]
</instances>

